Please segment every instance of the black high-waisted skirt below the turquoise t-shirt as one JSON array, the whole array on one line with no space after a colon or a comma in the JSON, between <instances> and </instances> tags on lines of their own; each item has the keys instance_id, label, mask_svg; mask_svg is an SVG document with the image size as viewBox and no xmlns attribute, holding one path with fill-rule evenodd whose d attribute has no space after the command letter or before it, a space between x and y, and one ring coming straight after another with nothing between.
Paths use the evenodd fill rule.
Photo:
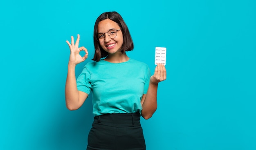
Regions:
<instances>
[{"instance_id":1,"label":"black high-waisted skirt below the turquoise t-shirt","mask_svg":"<svg viewBox=\"0 0 256 150\"><path fill-rule=\"evenodd\" d=\"M139 113L95 116L87 150L146 150Z\"/></svg>"}]
</instances>

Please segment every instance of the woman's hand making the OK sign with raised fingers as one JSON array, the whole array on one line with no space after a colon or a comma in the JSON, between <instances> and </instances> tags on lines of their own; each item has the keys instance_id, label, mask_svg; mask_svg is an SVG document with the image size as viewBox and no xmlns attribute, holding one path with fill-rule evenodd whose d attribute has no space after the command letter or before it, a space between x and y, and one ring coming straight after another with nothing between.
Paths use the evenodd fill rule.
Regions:
<instances>
[{"instance_id":1,"label":"woman's hand making the OK sign with raised fingers","mask_svg":"<svg viewBox=\"0 0 256 150\"><path fill-rule=\"evenodd\" d=\"M78 34L76 43L74 43L73 36L71 36L71 44L68 40L66 41L68 46L70 47L70 60L68 63L71 65L77 65L88 58L88 51L83 46L79 47L79 40L80 40L80 35ZM83 57L79 54L81 51L85 51L85 55Z\"/></svg>"}]
</instances>

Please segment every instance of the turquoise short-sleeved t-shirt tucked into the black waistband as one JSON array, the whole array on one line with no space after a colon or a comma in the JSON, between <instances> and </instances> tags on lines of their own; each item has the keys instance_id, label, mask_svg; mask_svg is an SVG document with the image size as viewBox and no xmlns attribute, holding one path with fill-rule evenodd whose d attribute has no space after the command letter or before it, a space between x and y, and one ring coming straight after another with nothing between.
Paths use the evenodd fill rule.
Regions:
<instances>
[{"instance_id":1,"label":"turquoise short-sleeved t-shirt tucked into the black waistband","mask_svg":"<svg viewBox=\"0 0 256 150\"><path fill-rule=\"evenodd\" d=\"M79 91L92 92L93 114L141 113L141 97L147 93L151 73L137 60L89 62L76 80Z\"/></svg>"}]
</instances>

